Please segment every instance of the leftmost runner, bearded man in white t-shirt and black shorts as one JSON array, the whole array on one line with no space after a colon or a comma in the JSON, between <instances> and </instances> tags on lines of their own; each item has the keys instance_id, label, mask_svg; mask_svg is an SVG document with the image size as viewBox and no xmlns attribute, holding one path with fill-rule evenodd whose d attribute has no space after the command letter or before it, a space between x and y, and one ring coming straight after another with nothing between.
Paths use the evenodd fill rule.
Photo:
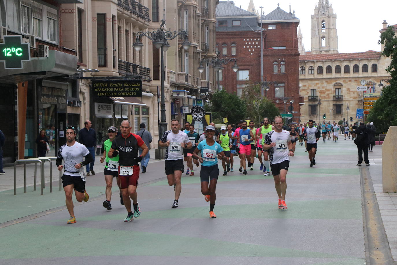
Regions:
<instances>
[{"instance_id":1,"label":"leftmost runner, bearded man in white t-shirt and black shorts","mask_svg":"<svg viewBox=\"0 0 397 265\"><path fill-rule=\"evenodd\" d=\"M76 222L72 201L73 190L75 191L78 202L88 201L89 199L87 191L85 191L85 172L83 166L92 161L92 156L87 147L76 142L75 137L75 128L72 126L66 127L66 144L59 148L56 159L58 170L62 171L64 169L62 184L66 196L67 211L69 211L70 215L67 221L68 224ZM85 157L85 161L83 161L83 157ZM64 160L64 165L62 165L62 160Z\"/></svg>"}]
</instances>

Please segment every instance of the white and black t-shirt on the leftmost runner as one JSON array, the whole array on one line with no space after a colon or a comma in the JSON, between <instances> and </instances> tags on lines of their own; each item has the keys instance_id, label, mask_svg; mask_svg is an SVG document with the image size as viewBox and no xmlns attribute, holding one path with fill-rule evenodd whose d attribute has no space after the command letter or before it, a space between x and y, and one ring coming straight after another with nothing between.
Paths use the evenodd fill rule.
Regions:
<instances>
[{"instance_id":1,"label":"white and black t-shirt on the leftmost runner","mask_svg":"<svg viewBox=\"0 0 397 265\"><path fill-rule=\"evenodd\" d=\"M72 146L62 145L58 151L58 158L64 159L64 174L79 177L79 170L74 166L83 162L83 157L89 153L90 151L88 151L87 147L79 142L75 142Z\"/></svg>"}]
</instances>

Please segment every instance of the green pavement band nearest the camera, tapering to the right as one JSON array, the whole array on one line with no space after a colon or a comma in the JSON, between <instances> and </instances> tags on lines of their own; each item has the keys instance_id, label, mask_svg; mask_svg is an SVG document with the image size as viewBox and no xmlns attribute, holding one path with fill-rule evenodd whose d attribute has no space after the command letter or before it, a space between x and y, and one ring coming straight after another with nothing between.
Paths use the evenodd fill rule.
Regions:
<instances>
[{"instance_id":1,"label":"green pavement band nearest the camera, tapering to the right","mask_svg":"<svg viewBox=\"0 0 397 265\"><path fill-rule=\"evenodd\" d=\"M215 220L208 220L216 222ZM322 257L353 258L316 251L278 248L149 232L131 231L134 223L120 222L122 230L21 223L2 228L2 259L84 257L103 255ZM208 226L206 230L215 230ZM207 231L208 232L208 231ZM60 244L60 237L62 243ZM23 251L15 251L23 247Z\"/></svg>"}]
</instances>

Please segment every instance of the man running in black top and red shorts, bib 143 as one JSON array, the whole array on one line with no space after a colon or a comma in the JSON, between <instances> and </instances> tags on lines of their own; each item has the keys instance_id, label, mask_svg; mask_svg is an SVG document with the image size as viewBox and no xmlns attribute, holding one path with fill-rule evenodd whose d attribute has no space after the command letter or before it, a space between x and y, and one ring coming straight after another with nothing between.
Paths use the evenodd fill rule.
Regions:
<instances>
[{"instance_id":1,"label":"man running in black top and red shorts, bib 143","mask_svg":"<svg viewBox=\"0 0 397 265\"><path fill-rule=\"evenodd\" d=\"M148 153L149 149L139 135L131 133L131 123L123 120L120 125L121 135L112 141L112 147L108 152L108 157L119 155L119 178L121 194L128 215L124 222L131 222L134 217L141 214L139 209L136 192L139 179L139 162ZM142 155L138 156L138 149L143 149ZM118 152L116 151L118 150ZM131 211L131 200L133 200L134 213Z\"/></svg>"}]
</instances>

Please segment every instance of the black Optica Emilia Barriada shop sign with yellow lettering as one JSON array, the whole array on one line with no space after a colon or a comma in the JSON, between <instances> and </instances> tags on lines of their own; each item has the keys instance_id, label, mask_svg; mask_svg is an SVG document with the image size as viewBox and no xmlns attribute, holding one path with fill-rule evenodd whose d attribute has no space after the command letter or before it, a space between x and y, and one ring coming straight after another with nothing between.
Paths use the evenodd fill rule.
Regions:
<instances>
[{"instance_id":1,"label":"black Optica Emilia Barriada shop sign with yellow lettering","mask_svg":"<svg viewBox=\"0 0 397 265\"><path fill-rule=\"evenodd\" d=\"M142 97L141 80L93 80L94 97Z\"/></svg>"}]
</instances>

